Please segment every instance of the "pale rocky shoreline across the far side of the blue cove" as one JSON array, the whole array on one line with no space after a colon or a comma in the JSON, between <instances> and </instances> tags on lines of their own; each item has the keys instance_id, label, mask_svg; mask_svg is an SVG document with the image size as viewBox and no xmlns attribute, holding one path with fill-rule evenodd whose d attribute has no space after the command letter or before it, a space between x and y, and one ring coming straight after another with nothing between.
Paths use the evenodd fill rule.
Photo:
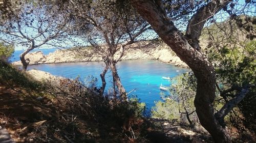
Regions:
<instances>
[{"instance_id":1,"label":"pale rocky shoreline across the far side of the blue cove","mask_svg":"<svg viewBox=\"0 0 256 143\"><path fill-rule=\"evenodd\" d=\"M102 61L100 56L94 55L91 58L84 56L88 50L56 50L53 53L45 55L41 51L29 53L25 59L29 59L29 65L36 64L57 64L57 63L76 63L89 61ZM118 54L115 55L118 57ZM124 52L121 60L159 60L163 63L172 64L180 67L188 67L180 58L165 44L160 44L155 48L150 49L130 49ZM13 65L21 66L20 61L12 63Z\"/></svg>"}]
</instances>

